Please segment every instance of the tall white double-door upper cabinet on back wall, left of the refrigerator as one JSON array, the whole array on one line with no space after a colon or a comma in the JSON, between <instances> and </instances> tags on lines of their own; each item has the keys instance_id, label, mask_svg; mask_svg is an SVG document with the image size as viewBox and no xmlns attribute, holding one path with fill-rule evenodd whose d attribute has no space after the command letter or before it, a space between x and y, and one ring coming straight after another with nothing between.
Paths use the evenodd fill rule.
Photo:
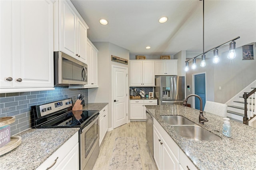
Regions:
<instances>
[{"instance_id":1,"label":"tall white double-door upper cabinet on back wall, left of the refrigerator","mask_svg":"<svg viewBox=\"0 0 256 170\"><path fill-rule=\"evenodd\" d=\"M155 61L130 60L130 86L155 86Z\"/></svg>"}]
</instances>

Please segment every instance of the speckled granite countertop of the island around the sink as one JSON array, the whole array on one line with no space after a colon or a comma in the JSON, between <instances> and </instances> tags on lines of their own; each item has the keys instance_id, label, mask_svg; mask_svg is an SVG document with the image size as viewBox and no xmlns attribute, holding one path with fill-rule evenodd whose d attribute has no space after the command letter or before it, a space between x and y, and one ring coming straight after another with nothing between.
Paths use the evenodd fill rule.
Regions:
<instances>
[{"instance_id":1,"label":"speckled granite countertop of the island around the sink","mask_svg":"<svg viewBox=\"0 0 256 170\"><path fill-rule=\"evenodd\" d=\"M199 110L181 105L146 106L180 149L200 170L255 170L256 169L256 128L230 120L232 136L222 134L223 118L204 112L209 122L198 122ZM220 136L218 141L186 140L160 117L180 115L198 126ZM216 132L219 131L219 132Z\"/></svg>"}]
</instances>

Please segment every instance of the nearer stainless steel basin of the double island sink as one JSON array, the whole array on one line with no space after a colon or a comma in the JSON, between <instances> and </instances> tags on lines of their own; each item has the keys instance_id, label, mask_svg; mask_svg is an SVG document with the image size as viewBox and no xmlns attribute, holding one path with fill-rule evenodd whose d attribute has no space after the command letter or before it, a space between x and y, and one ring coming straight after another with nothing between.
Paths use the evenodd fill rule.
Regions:
<instances>
[{"instance_id":1,"label":"nearer stainless steel basin of the double island sink","mask_svg":"<svg viewBox=\"0 0 256 170\"><path fill-rule=\"evenodd\" d=\"M199 126L172 126L174 130L187 140L221 140L220 137Z\"/></svg>"}]
</instances>

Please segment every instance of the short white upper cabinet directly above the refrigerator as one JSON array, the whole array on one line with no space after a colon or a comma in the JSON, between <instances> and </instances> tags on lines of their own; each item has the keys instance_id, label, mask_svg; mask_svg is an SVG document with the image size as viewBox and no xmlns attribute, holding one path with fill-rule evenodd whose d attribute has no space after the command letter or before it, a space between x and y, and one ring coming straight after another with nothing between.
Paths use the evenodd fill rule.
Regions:
<instances>
[{"instance_id":1,"label":"short white upper cabinet directly above the refrigerator","mask_svg":"<svg viewBox=\"0 0 256 170\"><path fill-rule=\"evenodd\" d=\"M155 61L155 75L177 75L178 60Z\"/></svg>"}]
</instances>

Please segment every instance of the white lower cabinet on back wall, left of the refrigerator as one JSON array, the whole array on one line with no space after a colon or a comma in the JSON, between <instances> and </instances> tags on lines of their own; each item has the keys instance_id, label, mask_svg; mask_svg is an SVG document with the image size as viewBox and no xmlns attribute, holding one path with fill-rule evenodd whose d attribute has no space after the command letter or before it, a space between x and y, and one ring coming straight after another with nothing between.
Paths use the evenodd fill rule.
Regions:
<instances>
[{"instance_id":1,"label":"white lower cabinet on back wall, left of the refrigerator","mask_svg":"<svg viewBox=\"0 0 256 170\"><path fill-rule=\"evenodd\" d=\"M130 120L146 119L145 105L157 105L157 100L130 100Z\"/></svg>"}]
</instances>

